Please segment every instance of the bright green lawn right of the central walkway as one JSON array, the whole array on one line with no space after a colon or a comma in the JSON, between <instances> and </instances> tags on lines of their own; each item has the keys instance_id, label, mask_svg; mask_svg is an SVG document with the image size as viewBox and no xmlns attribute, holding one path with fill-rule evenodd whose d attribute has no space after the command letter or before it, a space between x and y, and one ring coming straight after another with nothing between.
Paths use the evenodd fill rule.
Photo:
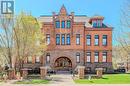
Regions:
<instances>
[{"instance_id":1,"label":"bright green lawn right of the central walkway","mask_svg":"<svg viewBox=\"0 0 130 86\"><path fill-rule=\"evenodd\" d=\"M108 74L102 79L77 79L78 84L130 84L130 74Z\"/></svg>"}]
</instances>

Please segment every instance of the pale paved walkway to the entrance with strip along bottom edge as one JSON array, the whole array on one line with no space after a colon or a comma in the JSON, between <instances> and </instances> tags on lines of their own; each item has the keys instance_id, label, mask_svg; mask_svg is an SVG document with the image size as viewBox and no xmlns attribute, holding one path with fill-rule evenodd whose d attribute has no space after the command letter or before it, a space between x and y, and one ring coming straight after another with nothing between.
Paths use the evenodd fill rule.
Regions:
<instances>
[{"instance_id":1,"label":"pale paved walkway to the entrance with strip along bottom edge","mask_svg":"<svg viewBox=\"0 0 130 86\"><path fill-rule=\"evenodd\" d=\"M13 81L7 83L0 83L0 86L130 86L130 84L75 84L72 75L58 74L52 75L52 81L49 84L11 84Z\"/></svg>"}]
</instances>

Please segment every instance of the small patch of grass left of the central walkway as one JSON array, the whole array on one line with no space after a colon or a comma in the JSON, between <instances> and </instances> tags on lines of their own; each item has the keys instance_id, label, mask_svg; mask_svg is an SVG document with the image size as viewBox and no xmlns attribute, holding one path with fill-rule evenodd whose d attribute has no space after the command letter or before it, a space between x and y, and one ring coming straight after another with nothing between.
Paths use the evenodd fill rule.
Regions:
<instances>
[{"instance_id":1,"label":"small patch of grass left of the central walkway","mask_svg":"<svg viewBox=\"0 0 130 86\"><path fill-rule=\"evenodd\" d=\"M48 84L49 80L33 79L30 81L17 81L15 84Z\"/></svg>"}]
</instances>

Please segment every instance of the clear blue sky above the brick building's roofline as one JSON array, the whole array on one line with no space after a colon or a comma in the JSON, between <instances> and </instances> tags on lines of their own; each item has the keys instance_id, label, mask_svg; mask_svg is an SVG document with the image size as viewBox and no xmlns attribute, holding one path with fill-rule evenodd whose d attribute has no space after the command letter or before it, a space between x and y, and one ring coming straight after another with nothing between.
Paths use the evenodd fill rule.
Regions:
<instances>
[{"instance_id":1,"label":"clear blue sky above the brick building's roofline","mask_svg":"<svg viewBox=\"0 0 130 86\"><path fill-rule=\"evenodd\" d=\"M120 32L120 11L125 0L15 0L15 13L21 10L31 12L33 16L51 15L59 12L64 4L68 13L76 15L93 16L95 14L105 17L104 23L114 27L113 45L116 45L115 36Z\"/></svg>"}]
</instances>

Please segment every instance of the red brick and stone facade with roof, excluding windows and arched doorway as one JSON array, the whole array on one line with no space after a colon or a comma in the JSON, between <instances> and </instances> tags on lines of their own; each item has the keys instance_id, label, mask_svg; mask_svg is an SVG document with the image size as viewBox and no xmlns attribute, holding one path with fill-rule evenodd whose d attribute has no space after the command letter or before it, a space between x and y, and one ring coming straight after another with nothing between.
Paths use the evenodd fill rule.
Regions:
<instances>
[{"instance_id":1,"label":"red brick and stone facade with roof, excluding windows and arched doorway","mask_svg":"<svg viewBox=\"0 0 130 86\"><path fill-rule=\"evenodd\" d=\"M56 14L53 12L52 16L40 16L38 20L42 23L41 30L45 36L49 35L49 44L47 45L46 53L41 57L41 65L49 65L52 69L55 69L55 62L60 57L70 59L72 63L72 70L77 65L85 66L85 69L90 68L91 72L95 72L95 69L102 67L106 69L106 72L112 71L112 27L109 27L103 23L102 16L87 17L84 15L74 15L73 12L67 13L64 6L60 9L60 12ZM70 21L70 27L67 28L67 21ZM56 28L56 21L60 22L59 28ZM100 27L94 27L93 21L100 21ZM58 22L58 23L59 23ZM63 26L62 26L63 22ZM64 27L65 26L65 27ZM60 44L56 44L56 34L60 34ZM62 44L62 34L64 34L65 44ZM70 35L70 44L67 45L67 34ZM76 39L76 35L79 35L79 40ZM87 45L86 35L91 36L91 44ZM98 35L98 46L95 46L95 35ZM103 35L107 35L107 45L103 45ZM46 39L47 40L47 39ZM79 45L76 44L76 40L79 41ZM48 41L48 40L47 40ZM103 52L107 52L106 62L103 62ZM90 62L87 62L87 52L91 52ZM98 62L95 62L95 52L98 52ZM47 54L49 56L47 57ZM79 62L77 62L76 54L79 53ZM35 59L35 57L33 57ZM49 59L49 62L47 62ZM27 61L25 61L27 64ZM33 60L33 63L35 61ZM40 65L40 66L41 66ZM39 67L39 66L37 66Z\"/></svg>"}]
</instances>

